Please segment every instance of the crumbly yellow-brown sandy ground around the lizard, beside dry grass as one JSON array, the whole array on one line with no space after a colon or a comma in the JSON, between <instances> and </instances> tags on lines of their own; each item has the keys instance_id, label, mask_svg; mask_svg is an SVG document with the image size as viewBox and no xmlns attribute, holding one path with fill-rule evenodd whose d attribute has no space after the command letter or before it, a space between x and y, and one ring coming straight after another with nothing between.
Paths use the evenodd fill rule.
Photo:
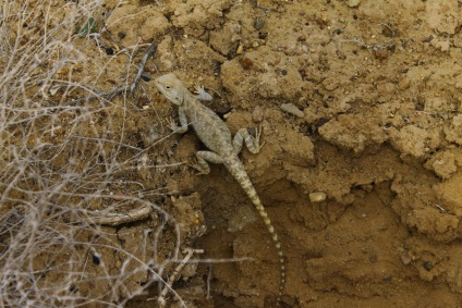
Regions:
<instances>
[{"instance_id":1,"label":"crumbly yellow-brown sandy ground around the lizard, beside dry grass","mask_svg":"<svg viewBox=\"0 0 462 308\"><path fill-rule=\"evenodd\" d=\"M205 103L233 133L263 126L260 153L241 158L285 252L281 307L461 305L460 1L108 0L105 9L106 36L119 47L158 42L147 66L192 90L205 85L215 98ZM85 52L107 65L101 88L121 81L122 57ZM154 103L127 106L127 143L149 147L151 163L190 161L204 146L192 130L159 141L175 108L151 81L143 87ZM187 307L275 307L277 251L222 165L130 178L167 188L156 201L182 223L184 245L204 249L197 258L252 258L181 273L174 289ZM126 307L153 307L156 293Z\"/></svg>"}]
</instances>

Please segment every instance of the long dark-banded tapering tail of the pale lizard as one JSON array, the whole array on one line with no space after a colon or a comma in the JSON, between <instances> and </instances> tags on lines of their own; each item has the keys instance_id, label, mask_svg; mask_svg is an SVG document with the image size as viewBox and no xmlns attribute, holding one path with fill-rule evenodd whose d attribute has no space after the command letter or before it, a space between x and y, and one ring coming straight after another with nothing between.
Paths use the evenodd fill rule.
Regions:
<instances>
[{"instance_id":1,"label":"long dark-banded tapering tail of the pale lizard","mask_svg":"<svg viewBox=\"0 0 462 308\"><path fill-rule=\"evenodd\" d=\"M269 235L272 238L272 242L275 243L276 249L278 250L279 255L279 262L280 262L280 281L279 281L279 293L278 293L278 299L277 299L277 306L279 306L279 301L282 296L282 292L284 289L285 285L285 259L284 259L284 252L282 251L281 242L279 242L279 236L275 231L275 227L272 226L271 220L268 217L267 211L265 210L265 207L262 204L262 200L259 199L257 192L255 190L254 185L251 182L251 178L248 178L247 172L244 169L244 165L242 162L238 159L233 161L232 168L228 167L228 170L230 173L234 176L234 178L241 184L241 187L245 190L248 198L254 204L255 208L258 211L258 214L263 218L263 221L266 224L266 227L268 229Z\"/></svg>"}]
</instances>

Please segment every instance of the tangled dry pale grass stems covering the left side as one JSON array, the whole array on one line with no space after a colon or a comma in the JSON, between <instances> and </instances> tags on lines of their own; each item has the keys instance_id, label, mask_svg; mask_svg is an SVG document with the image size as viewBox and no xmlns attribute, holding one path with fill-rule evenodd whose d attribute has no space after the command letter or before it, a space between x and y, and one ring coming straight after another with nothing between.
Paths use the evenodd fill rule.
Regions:
<instances>
[{"instance_id":1,"label":"tangled dry pale grass stems covering the left side","mask_svg":"<svg viewBox=\"0 0 462 308\"><path fill-rule=\"evenodd\" d=\"M178 224L126 176L143 153L120 121L126 93L120 103L69 103L98 94L98 78L82 72L93 65L83 50L95 45L101 11L99 0L0 7L2 307L123 306L179 262ZM145 218L149 229L123 227ZM166 233L177 241L160 251ZM134 236L137 245L126 244Z\"/></svg>"}]
</instances>

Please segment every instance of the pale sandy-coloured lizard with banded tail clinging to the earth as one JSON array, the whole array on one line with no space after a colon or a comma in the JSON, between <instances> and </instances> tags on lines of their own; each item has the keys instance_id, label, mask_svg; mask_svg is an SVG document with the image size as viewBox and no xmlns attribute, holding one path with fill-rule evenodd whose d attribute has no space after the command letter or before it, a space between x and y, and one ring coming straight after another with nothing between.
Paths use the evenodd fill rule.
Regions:
<instances>
[{"instance_id":1,"label":"pale sandy-coloured lizard with banded tail clinging to the earth","mask_svg":"<svg viewBox=\"0 0 462 308\"><path fill-rule=\"evenodd\" d=\"M252 153L259 152L262 128L258 127L255 137L248 134L246 128L241 128L234 135L234 138L231 138L231 131L228 128L227 124L214 111L199 101L200 97L204 97L200 96L200 93L204 91L203 88L199 88L200 91L198 97L194 96L187 89L186 85L173 73L157 77L155 79L155 84L170 102L178 106L180 126L178 126L174 122L171 122L171 130L174 133L185 133L190 123L198 138L210 150L197 151L195 155L196 164L192 167L195 168L199 174L208 174L210 172L210 167L207 161L212 163L222 163L239 182L258 211L258 214L263 218L279 255L280 282L277 298L277 306L279 306L285 284L284 254L271 220L269 219L268 213L265 210L262 200L259 199L257 192L247 175L247 172L245 171L244 164L238 157L242 150L244 141L245 146Z\"/></svg>"}]
</instances>

